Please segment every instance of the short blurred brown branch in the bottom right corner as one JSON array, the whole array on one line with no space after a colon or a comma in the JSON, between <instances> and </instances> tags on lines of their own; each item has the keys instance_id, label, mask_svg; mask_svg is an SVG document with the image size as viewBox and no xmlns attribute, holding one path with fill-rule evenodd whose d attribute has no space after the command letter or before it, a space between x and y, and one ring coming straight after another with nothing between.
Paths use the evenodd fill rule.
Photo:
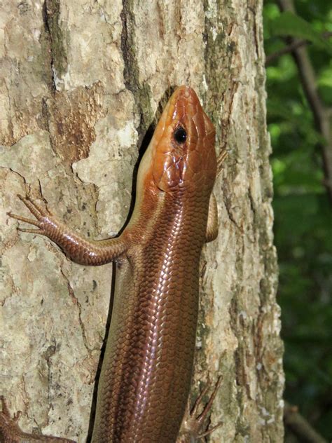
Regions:
<instances>
[{"instance_id":1,"label":"short blurred brown branch in the bottom right corner","mask_svg":"<svg viewBox=\"0 0 332 443\"><path fill-rule=\"evenodd\" d=\"M326 439L321 437L319 433L312 428L303 416L298 412L296 406L285 402L284 406L284 422L285 425L293 432L296 437L303 443L327 443Z\"/></svg>"}]
</instances>

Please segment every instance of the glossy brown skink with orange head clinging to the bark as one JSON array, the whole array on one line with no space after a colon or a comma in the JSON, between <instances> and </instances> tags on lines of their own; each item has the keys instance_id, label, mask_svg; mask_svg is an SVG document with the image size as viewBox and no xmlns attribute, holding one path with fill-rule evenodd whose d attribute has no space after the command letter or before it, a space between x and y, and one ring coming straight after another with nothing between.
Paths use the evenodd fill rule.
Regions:
<instances>
[{"instance_id":1,"label":"glossy brown skink with orange head clinging to the bark","mask_svg":"<svg viewBox=\"0 0 332 443\"><path fill-rule=\"evenodd\" d=\"M85 240L29 196L20 199L36 220L9 214L37 227L21 231L47 236L79 264L116 263L92 443L194 441L179 430L193 370L200 253L217 234L214 139L194 90L181 86L141 160L134 211L118 238ZM1 441L71 441L23 439L19 431L3 400Z\"/></svg>"}]
</instances>

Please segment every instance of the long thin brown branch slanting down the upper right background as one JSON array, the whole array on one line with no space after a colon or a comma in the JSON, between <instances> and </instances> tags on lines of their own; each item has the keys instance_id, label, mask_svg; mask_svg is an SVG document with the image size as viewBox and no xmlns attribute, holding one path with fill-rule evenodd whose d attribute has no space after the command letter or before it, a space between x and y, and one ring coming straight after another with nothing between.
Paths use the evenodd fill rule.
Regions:
<instances>
[{"instance_id":1,"label":"long thin brown branch slanting down the upper right background","mask_svg":"<svg viewBox=\"0 0 332 443\"><path fill-rule=\"evenodd\" d=\"M293 0L278 0L278 3L282 11L291 11L296 14ZM298 40L291 39L291 43L295 43L296 41ZM305 46L298 46L293 48L292 53L298 66L304 93L312 109L315 125L325 139L324 144L321 144L321 156L324 166L324 186L332 202L332 111L324 107L317 92L317 79L307 54L307 48L305 48Z\"/></svg>"}]
</instances>

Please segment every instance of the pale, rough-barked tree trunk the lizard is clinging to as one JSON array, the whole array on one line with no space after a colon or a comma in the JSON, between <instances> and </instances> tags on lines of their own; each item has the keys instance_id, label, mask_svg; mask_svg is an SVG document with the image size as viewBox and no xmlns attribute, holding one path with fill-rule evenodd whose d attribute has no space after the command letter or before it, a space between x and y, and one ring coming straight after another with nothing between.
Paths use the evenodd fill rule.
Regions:
<instances>
[{"instance_id":1,"label":"pale, rough-barked tree trunk the lizard is clinging to","mask_svg":"<svg viewBox=\"0 0 332 443\"><path fill-rule=\"evenodd\" d=\"M0 394L21 427L85 442L112 266L19 233L16 194L91 238L123 226L137 146L171 87L195 88L228 158L202 254L195 382L219 375L211 442L282 442L262 1L6 1L1 12ZM202 383L199 383L201 381Z\"/></svg>"}]
</instances>

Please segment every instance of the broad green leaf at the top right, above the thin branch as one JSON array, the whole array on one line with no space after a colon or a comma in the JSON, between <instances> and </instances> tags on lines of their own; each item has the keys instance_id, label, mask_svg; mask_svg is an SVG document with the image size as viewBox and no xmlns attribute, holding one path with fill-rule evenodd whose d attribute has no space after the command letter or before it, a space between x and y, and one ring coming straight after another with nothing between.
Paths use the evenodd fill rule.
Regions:
<instances>
[{"instance_id":1,"label":"broad green leaf at the top right, above the thin branch","mask_svg":"<svg viewBox=\"0 0 332 443\"><path fill-rule=\"evenodd\" d=\"M331 43L315 31L309 22L290 11L285 11L278 17L270 18L268 27L271 36L291 36L311 41L314 45L332 54Z\"/></svg>"}]
</instances>

